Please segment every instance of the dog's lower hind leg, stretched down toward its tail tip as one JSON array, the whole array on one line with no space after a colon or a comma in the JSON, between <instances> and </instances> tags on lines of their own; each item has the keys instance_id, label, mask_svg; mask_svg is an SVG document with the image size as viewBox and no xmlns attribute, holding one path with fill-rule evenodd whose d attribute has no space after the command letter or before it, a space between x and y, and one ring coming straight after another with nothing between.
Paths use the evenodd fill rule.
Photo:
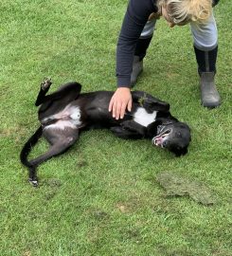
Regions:
<instances>
[{"instance_id":1,"label":"dog's lower hind leg, stretched down toward its tail tip","mask_svg":"<svg viewBox=\"0 0 232 256\"><path fill-rule=\"evenodd\" d=\"M33 186L38 186L36 168L49 158L62 155L62 153L70 148L79 138L79 130L67 128L64 132L63 130L48 128L45 129L43 135L50 143L50 148L45 154L29 161L29 182Z\"/></svg>"}]
</instances>

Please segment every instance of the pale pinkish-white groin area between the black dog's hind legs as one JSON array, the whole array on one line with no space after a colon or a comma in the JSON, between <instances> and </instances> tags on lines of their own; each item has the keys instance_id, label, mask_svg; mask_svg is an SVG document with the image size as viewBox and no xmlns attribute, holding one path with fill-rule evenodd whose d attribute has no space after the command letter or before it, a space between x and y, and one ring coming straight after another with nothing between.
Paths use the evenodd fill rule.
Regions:
<instances>
[{"instance_id":1,"label":"pale pinkish-white groin area between the black dog's hind legs","mask_svg":"<svg viewBox=\"0 0 232 256\"><path fill-rule=\"evenodd\" d=\"M77 129L82 125L79 106L68 104L62 111L41 120L45 129Z\"/></svg>"}]
</instances>

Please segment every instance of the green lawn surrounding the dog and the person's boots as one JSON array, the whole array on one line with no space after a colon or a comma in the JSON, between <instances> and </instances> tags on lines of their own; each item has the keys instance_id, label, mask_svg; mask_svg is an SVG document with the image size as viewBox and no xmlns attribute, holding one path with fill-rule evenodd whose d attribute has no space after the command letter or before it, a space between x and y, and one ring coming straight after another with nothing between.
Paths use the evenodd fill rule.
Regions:
<instances>
[{"instance_id":1,"label":"green lawn surrounding the dog and the person's boots","mask_svg":"<svg viewBox=\"0 0 232 256\"><path fill-rule=\"evenodd\" d=\"M0 6L0 255L232 255L231 1L215 9L217 85L223 104L200 106L189 27L160 20L136 89L169 101L192 130L189 154L175 158L151 141L107 130L83 133L65 155L27 184L19 153L38 127L39 84L78 81L82 90L115 90L116 40L127 1L7 1ZM45 152L41 141L31 156ZM155 180L171 171L203 182L212 207L165 197Z\"/></svg>"}]
</instances>

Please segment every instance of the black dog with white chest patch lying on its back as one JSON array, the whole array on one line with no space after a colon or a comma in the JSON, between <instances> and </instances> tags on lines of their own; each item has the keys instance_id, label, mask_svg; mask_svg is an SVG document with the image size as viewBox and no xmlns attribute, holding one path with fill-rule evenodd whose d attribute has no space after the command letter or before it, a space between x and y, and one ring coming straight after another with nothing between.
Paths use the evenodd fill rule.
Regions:
<instances>
[{"instance_id":1,"label":"black dog with white chest patch lying on its back","mask_svg":"<svg viewBox=\"0 0 232 256\"><path fill-rule=\"evenodd\" d=\"M81 85L69 82L56 92L47 95L51 81L46 79L35 102L39 109L41 126L25 144L20 158L29 170L29 181L38 185L36 168L54 155L64 153L86 129L108 128L117 137L152 138L152 144L166 148L175 155L187 154L190 129L186 123L170 115L170 104L151 95L132 92L133 108L124 119L114 119L108 111L114 92L98 91L80 94ZM44 136L50 143L49 150L30 161L27 160L31 147Z\"/></svg>"}]
</instances>

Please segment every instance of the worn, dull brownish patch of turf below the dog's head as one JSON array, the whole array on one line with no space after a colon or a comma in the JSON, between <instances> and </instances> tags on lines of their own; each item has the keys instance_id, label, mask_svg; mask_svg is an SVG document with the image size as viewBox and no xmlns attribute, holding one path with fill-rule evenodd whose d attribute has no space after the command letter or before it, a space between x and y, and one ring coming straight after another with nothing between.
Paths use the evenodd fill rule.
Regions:
<instances>
[{"instance_id":1,"label":"worn, dull brownish patch of turf below the dog's head","mask_svg":"<svg viewBox=\"0 0 232 256\"><path fill-rule=\"evenodd\" d=\"M216 204L215 195L202 183L179 174L162 172L156 177L157 182L166 190L166 196L189 196L205 206Z\"/></svg>"}]
</instances>

